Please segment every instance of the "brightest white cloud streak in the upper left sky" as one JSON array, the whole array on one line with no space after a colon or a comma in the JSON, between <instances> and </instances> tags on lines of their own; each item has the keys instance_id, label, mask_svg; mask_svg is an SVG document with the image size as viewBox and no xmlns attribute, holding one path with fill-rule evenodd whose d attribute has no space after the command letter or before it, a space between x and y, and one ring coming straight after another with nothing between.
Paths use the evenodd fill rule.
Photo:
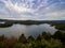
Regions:
<instances>
[{"instance_id":1,"label":"brightest white cloud streak in the upper left sky","mask_svg":"<svg viewBox=\"0 0 65 48\"><path fill-rule=\"evenodd\" d=\"M34 12L32 9L27 9L26 7L26 4L23 4L23 3L15 3L13 4L10 0L9 1L4 1L5 3L5 6L9 7L9 9L12 9L18 13L22 13L22 12Z\"/></svg>"}]
</instances>

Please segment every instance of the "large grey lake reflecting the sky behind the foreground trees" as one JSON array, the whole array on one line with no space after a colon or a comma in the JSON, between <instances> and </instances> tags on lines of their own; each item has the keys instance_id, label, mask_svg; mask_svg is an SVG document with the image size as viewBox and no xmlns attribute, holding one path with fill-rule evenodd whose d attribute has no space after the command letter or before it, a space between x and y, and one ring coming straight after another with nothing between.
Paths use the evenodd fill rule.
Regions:
<instances>
[{"instance_id":1,"label":"large grey lake reflecting the sky behind the foreground trees","mask_svg":"<svg viewBox=\"0 0 65 48\"><path fill-rule=\"evenodd\" d=\"M18 37L21 34L25 34L26 36L34 35L37 36L42 32L51 32L54 33L56 29L51 27L48 23L43 25L32 25L32 26L25 26L25 25L13 25L9 28L0 28L0 35L4 34L5 36L16 36Z\"/></svg>"}]
</instances>

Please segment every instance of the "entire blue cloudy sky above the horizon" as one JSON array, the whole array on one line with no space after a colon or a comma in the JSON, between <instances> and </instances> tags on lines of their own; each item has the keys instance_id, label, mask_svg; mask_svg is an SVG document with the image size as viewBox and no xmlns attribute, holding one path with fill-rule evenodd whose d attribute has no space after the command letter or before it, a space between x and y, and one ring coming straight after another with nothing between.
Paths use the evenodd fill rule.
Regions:
<instances>
[{"instance_id":1,"label":"entire blue cloudy sky above the horizon","mask_svg":"<svg viewBox=\"0 0 65 48\"><path fill-rule=\"evenodd\" d=\"M0 19L65 20L65 0L0 0Z\"/></svg>"}]
</instances>

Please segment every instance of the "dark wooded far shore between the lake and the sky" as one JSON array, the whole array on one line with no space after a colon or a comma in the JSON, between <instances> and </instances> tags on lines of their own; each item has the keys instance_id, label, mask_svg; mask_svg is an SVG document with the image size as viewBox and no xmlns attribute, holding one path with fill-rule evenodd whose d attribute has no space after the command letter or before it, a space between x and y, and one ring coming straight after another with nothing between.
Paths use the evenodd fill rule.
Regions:
<instances>
[{"instance_id":1,"label":"dark wooded far shore between the lake and the sky","mask_svg":"<svg viewBox=\"0 0 65 48\"><path fill-rule=\"evenodd\" d=\"M4 21L4 20L3 20ZM51 26L55 26L55 29L57 30L64 30L65 31L65 20L5 20L4 23L0 23L0 28L8 28L13 25L25 25L25 26L31 26L31 25L42 25L42 23L49 23Z\"/></svg>"}]
</instances>

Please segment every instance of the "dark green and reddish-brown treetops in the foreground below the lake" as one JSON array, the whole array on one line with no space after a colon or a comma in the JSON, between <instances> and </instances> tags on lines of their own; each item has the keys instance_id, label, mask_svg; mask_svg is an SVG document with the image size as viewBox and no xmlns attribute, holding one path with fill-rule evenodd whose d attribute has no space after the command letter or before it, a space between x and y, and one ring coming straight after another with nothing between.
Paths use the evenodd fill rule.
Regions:
<instances>
[{"instance_id":1,"label":"dark green and reddish-brown treetops in the foreground below the lake","mask_svg":"<svg viewBox=\"0 0 65 48\"><path fill-rule=\"evenodd\" d=\"M0 48L65 48L65 33L56 31L54 34L42 32L36 38L22 34L18 38L0 36Z\"/></svg>"}]
</instances>

